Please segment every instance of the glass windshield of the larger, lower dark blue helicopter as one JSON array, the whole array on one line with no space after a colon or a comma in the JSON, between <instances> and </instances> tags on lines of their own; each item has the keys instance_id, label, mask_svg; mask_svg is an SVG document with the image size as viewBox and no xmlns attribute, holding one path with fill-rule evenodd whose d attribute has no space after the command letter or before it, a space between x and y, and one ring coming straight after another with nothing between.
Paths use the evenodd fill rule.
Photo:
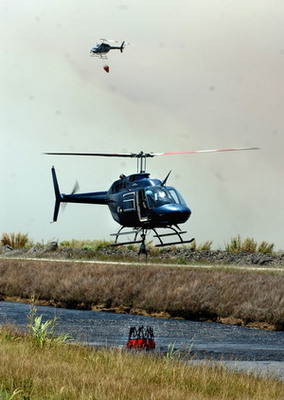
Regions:
<instances>
[{"instance_id":1,"label":"glass windshield of the larger, lower dark blue helicopter","mask_svg":"<svg viewBox=\"0 0 284 400\"><path fill-rule=\"evenodd\" d=\"M149 186L145 188L149 208L165 204L185 204L178 191L172 187Z\"/></svg>"}]
</instances>

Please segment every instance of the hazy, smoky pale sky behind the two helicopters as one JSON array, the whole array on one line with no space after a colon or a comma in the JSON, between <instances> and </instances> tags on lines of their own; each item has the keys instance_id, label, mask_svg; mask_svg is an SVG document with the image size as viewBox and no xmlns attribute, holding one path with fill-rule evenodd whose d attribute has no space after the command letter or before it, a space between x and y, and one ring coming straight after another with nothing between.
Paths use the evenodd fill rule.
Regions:
<instances>
[{"instance_id":1,"label":"hazy, smoky pale sky behind the two helicopters","mask_svg":"<svg viewBox=\"0 0 284 400\"><path fill-rule=\"evenodd\" d=\"M107 190L135 160L45 151L251 152L151 159L192 210L183 226L214 247L240 234L284 248L284 2L281 0L0 0L2 232L32 240L109 239L107 207L68 204L60 189ZM99 38L123 54L89 57Z\"/></svg>"}]
</instances>

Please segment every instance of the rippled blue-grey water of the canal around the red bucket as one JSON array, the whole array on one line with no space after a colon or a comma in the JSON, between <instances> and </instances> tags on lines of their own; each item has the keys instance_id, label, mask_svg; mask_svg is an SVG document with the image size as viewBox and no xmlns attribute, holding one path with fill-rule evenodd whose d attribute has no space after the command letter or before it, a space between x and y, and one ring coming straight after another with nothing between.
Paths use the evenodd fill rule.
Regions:
<instances>
[{"instance_id":1,"label":"rippled blue-grey water of the canal around the red bucket","mask_svg":"<svg viewBox=\"0 0 284 400\"><path fill-rule=\"evenodd\" d=\"M59 317L58 333L69 333L92 346L124 347L130 326L150 325L154 329L158 351L165 352L169 345L174 345L177 350L191 350L194 360L224 360L237 369L273 371L284 379L283 332L129 314L37 308L43 321L55 315ZM29 310L27 304L1 301L0 323L11 322L24 329Z\"/></svg>"}]
</instances>

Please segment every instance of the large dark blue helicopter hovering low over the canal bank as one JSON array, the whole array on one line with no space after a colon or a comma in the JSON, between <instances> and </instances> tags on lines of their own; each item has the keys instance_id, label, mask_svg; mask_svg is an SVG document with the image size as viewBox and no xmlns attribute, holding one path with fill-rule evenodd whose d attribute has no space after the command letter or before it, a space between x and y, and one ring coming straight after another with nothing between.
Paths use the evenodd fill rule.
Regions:
<instances>
[{"instance_id":1,"label":"large dark blue helicopter hovering low over the canal bank","mask_svg":"<svg viewBox=\"0 0 284 400\"><path fill-rule=\"evenodd\" d=\"M167 180L171 171L163 181L150 178L146 172L146 160L155 156L175 154L212 153L225 151L256 150L256 147L197 150L170 153L44 153L56 156L87 156L87 157L128 157L137 159L137 173L125 176L121 174L119 180L113 182L108 191L75 193L60 193L59 185L52 167L52 178L55 191L55 208L53 222L57 221L60 203L87 203L103 204L109 207L113 219L121 225L115 236L113 246L140 243L139 254L146 254L145 239L148 233L154 232L154 237L159 241L156 247L190 243L194 238L183 240L180 224L185 223L191 210L186 205L180 193L172 186L167 186ZM132 228L131 231L123 232L125 228ZM165 233L159 233L163 229ZM131 241L119 242L123 234L133 234ZM139 239L138 235L140 236ZM174 237L172 242L164 242L166 237Z\"/></svg>"}]
</instances>

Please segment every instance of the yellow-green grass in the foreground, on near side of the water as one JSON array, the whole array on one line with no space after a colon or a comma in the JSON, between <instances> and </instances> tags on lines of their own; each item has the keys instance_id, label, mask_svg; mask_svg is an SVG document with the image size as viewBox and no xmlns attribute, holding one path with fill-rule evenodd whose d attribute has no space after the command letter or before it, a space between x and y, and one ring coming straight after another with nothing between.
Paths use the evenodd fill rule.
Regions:
<instances>
[{"instance_id":1,"label":"yellow-green grass in the foreground, on near side of the water","mask_svg":"<svg viewBox=\"0 0 284 400\"><path fill-rule=\"evenodd\" d=\"M276 379L189 365L174 355L94 350L0 328L0 399L283 399Z\"/></svg>"}]
</instances>

